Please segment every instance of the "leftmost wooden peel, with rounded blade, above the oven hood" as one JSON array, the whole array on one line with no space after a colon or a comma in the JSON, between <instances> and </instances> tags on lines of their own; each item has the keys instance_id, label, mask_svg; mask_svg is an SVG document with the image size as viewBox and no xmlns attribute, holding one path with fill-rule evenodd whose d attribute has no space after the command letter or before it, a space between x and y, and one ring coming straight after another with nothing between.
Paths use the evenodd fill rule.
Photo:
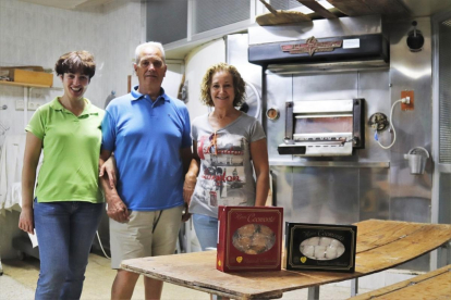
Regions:
<instances>
[{"instance_id":1,"label":"leftmost wooden peel, with rounded blade, above the oven hood","mask_svg":"<svg viewBox=\"0 0 451 300\"><path fill-rule=\"evenodd\" d=\"M272 8L265 0L260 0L260 2L268 9L268 11L270 11L269 13L257 15L257 17L255 18L257 24L260 26L291 24L306 21L312 22L312 18L303 14L302 12L278 11L275 10L275 8Z\"/></svg>"}]
</instances>

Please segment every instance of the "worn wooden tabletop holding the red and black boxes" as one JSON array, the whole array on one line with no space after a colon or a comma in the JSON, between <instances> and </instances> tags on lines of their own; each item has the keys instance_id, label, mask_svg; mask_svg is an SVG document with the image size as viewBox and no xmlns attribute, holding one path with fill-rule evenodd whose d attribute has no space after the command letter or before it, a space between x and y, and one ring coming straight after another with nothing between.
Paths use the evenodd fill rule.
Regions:
<instances>
[{"instance_id":1,"label":"worn wooden tabletop holding the red and black boxes","mask_svg":"<svg viewBox=\"0 0 451 300\"><path fill-rule=\"evenodd\" d=\"M123 270L233 299L275 299L284 291L366 276L418 258L451 240L451 225L368 220L358 222L354 273L216 270L216 251L123 261ZM318 290L319 291L319 290Z\"/></svg>"}]
</instances>

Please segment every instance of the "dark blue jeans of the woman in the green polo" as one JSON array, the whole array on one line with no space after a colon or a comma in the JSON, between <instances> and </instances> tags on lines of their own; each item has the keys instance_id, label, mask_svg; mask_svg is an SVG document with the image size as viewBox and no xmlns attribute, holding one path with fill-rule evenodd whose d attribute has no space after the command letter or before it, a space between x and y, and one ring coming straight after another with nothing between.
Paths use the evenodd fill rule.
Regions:
<instances>
[{"instance_id":1,"label":"dark blue jeans of the woman in the green polo","mask_svg":"<svg viewBox=\"0 0 451 300\"><path fill-rule=\"evenodd\" d=\"M35 199L40 259L36 300L80 299L103 207L82 201L39 203Z\"/></svg>"}]
</instances>

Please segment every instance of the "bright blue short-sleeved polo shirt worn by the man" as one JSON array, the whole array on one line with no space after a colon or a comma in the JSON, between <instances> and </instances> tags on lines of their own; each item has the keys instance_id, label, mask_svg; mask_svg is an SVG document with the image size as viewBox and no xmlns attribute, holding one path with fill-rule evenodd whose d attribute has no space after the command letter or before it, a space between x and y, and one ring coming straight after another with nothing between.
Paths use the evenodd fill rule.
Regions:
<instances>
[{"instance_id":1,"label":"bright blue short-sleeved polo shirt worn by the man","mask_svg":"<svg viewBox=\"0 0 451 300\"><path fill-rule=\"evenodd\" d=\"M161 95L153 102L137 91L113 99L101 125L101 148L114 152L117 189L130 210L156 211L183 204L180 149L192 145L186 105Z\"/></svg>"}]
</instances>

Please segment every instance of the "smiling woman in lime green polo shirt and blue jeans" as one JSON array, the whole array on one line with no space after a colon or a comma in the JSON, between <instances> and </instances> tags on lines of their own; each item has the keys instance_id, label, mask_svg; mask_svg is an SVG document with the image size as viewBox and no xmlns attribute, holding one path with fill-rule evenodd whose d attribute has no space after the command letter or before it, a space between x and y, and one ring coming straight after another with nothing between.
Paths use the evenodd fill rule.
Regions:
<instances>
[{"instance_id":1,"label":"smiling woman in lime green polo shirt and blue jeans","mask_svg":"<svg viewBox=\"0 0 451 300\"><path fill-rule=\"evenodd\" d=\"M80 299L103 209L98 160L105 112L83 97L96 71L94 57L87 51L65 53L54 71L63 96L41 105L25 128L19 227L31 234L36 228L40 257L37 300Z\"/></svg>"}]
</instances>

